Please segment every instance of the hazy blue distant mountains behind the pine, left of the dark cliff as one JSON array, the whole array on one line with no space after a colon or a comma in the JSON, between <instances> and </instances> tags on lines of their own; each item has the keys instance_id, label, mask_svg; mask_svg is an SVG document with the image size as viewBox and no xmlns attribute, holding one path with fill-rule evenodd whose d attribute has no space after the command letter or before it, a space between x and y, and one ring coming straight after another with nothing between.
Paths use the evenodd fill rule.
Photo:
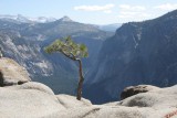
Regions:
<instances>
[{"instance_id":1,"label":"hazy blue distant mountains behind the pine, left of the dark cliff","mask_svg":"<svg viewBox=\"0 0 177 118\"><path fill-rule=\"evenodd\" d=\"M74 92L77 65L60 54L45 54L43 47L66 35L71 35L76 42L85 43L90 53L90 57L84 60L86 74L94 64L102 42L112 35L93 25L72 21L67 17L46 23L28 22L28 19L21 15L18 19L9 20L10 18L11 15L0 19L0 46L4 55L24 66L33 81L48 84L56 93Z\"/></svg>"}]
</instances>

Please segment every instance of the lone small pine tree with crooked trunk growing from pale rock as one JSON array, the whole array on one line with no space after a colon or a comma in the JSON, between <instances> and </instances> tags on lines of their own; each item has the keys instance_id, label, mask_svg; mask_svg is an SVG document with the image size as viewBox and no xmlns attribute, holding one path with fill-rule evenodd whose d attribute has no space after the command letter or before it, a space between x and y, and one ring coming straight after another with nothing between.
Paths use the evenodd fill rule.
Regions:
<instances>
[{"instance_id":1,"label":"lone small pine tree with crooked trunk growing from pale rock","mask_svg":"<svg viewBox=\"0 0 177 118\"><path fill-rule=\"evenodd\" d=\"M56 40L49 46L44 47L44 51L49 54L59 52L64 56L69 57L72 61L79 62L79 85L77 85L77 95L76 99L81 100L82 97L82 86L84 82L83 68L82 68L82 57L87 57L87 47L84 44L75 43L71 36L66 36L62 40Z\"/></svg>"}]
</instances>

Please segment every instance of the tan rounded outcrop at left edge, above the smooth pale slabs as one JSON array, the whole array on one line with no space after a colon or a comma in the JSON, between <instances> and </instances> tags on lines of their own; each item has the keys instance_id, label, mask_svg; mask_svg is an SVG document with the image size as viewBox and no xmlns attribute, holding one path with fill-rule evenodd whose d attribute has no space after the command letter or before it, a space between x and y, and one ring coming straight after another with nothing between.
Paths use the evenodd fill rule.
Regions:
<instances>
[{"instance_id":1,"label":"tan rounded outcrop at left edge, above the smooth pale slabs","mask_svg":"<svg viewBox=\"0 0 177 118\"><path fill-rule=\"evenodd\" d=\"M11 58L0 58L1 86L18 85L30 82L29 73Z\"/></svg>"}]
</instances>

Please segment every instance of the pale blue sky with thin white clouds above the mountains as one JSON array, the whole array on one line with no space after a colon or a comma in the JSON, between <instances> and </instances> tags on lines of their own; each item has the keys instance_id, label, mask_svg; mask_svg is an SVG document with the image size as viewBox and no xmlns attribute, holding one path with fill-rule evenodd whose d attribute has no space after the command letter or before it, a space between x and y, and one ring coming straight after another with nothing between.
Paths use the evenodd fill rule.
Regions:
<instances>
[{"instance_id":1,"label":"pale blue sky with thin white clouds above the mountains","mask_svg":"<svg viewBox=\"0 0 177 118\"><path fill-rule=\"evenodd\" d=\"M0 14L67 15L92 24L125 23L155 19L177 9L177 0L0 0Z\"/></svg>"}]
</instances>

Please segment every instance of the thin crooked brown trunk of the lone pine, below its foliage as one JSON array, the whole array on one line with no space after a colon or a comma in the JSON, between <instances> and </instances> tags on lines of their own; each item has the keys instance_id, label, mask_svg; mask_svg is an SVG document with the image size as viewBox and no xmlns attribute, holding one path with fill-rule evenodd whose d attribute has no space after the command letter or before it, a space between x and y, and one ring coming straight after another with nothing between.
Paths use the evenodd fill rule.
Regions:
<instances>
[{"instance_id":1,"label":"thin crooked brown trunk of the lone pine, below its foliage","mask_svg":"<svg viewBox=\"0 0 177 118\"><path fill-rule=\"evenodd\" d=\"M82 86L83 86L83 82L84 82L84 77L83 77L83 74L82 74L82 62L81 60L77 60L79 61L79 74L80 74L80 79L79 79L79 85L77 85L77 95L76 95L76 99L81 100L81 97L82 97Z\"/></svg>"}]
</instances>

